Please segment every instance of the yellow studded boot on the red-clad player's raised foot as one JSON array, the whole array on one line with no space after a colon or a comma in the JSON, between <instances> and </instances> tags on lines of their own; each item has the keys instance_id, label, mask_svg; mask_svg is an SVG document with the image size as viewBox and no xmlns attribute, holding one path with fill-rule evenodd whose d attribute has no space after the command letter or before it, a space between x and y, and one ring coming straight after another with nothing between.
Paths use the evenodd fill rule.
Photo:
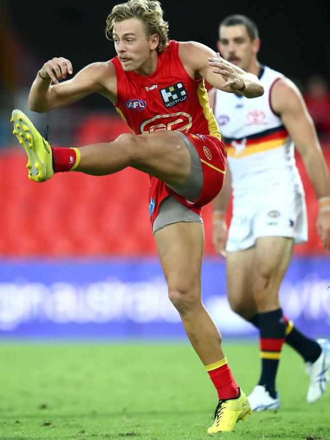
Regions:
<instances>
[{"instance_id":1,"label":"yellow studded boot on the red-clad player's raised foot","mask_svg":"<svg viewBox=\"0 0 330 440\"><path fill-rule=\"evenodd\" d=\"M50 179L54 170L53 154L48 142L20 110L13 111L10 122L14 124L13 134L27 153L28 178L35 182Z\"/></svg>"}]
</instances>

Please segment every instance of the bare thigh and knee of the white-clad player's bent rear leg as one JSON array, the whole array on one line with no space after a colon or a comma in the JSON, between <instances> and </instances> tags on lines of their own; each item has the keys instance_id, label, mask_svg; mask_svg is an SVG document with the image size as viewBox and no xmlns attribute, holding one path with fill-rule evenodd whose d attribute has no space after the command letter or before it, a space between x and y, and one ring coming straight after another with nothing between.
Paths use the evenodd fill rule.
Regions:
<instances>
[{"instance_id":1,"label":"bare thigh and knee of the white-clad player's bent rear leg","mask_svg":"<svg viewBox=\"0 0 330 440\"><path fill-rule=\"evenodd\" d=\"M227 252L227 296L230 307L244 318L256 313L252 293L254 247Z\"/></svg>"}]
</instances>

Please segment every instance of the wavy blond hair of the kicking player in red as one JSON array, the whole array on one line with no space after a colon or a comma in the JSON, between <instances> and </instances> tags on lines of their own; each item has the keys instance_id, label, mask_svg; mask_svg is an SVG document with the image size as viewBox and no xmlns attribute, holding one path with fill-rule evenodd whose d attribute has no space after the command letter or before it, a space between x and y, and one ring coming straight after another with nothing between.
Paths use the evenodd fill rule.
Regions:
<instances>
[{"instance_id":1,"label":"wavy blond hair of the kicking player in red","mask_svg":"<svg viewBox=\"0 0 330 440\"><path fill-rule=\"evenodd\" d=\"M157 0L128 0L113 7L107 17L106 37L113 40L113 27L118 21L138 18L144 24L147 38L155 33L159 37L157 52L163 52L168 44L169 23L163 20L163 11Z\"/></svg>"}]
</instances>

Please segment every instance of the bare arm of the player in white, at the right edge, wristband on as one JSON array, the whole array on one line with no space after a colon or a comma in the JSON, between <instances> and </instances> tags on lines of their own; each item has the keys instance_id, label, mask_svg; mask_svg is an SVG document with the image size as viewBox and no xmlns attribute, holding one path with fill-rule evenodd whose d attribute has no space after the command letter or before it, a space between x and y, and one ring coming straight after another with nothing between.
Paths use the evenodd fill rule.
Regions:
<instances>
[{"instance_id":1,"label":"bare arm of the player in white, at the right edge, wristband on","mask_svg":"<svg viewBox=\"0 0 330 440\"><path fill-rule=\"evenodd\" d=\"M271 102L302 155L319 200L318 233L324 248L330 250L330 182L314 123L300 91L286 78L281 78L274 84Z\"/></svg>"}]
</instances>

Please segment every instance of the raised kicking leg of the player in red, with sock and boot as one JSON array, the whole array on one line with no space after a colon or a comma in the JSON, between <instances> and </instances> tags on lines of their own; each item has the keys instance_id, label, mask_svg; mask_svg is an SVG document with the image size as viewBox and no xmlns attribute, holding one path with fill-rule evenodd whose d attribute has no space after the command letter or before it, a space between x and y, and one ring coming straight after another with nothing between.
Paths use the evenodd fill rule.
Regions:
<instances>
[{"instance_id":1,"label":"raised kicking leg of the player in red, with sock and boot","mask_svg":"<svg viewBox=\"0 0 330 440\"><path fill-rule=\"evenodd\" d=\"M12 114L14 134L27 155L28 177L44 182L54 172L79 171L94 176L116 173L127 166L152 174L169 185L181 186L190 173L189 151L174 131L140 136L121 134L114 142L81 148L54 148L19 110Z\"/></svg>"}]
</instances>

